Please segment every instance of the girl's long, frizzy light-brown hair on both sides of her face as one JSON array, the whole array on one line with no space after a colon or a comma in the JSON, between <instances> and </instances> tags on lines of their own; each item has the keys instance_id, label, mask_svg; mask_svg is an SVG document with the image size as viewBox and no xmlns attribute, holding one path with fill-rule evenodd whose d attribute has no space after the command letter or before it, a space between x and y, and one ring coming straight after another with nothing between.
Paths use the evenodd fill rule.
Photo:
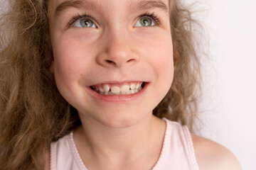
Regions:
<instances>
[{"instance_id":1,"label":"girl's long, frizzy light-brown hair on both sides of her face","mask_svg":"<svg viewBox=\"0 0 256 170\"><path fill-rule=\"evenodd\" d=\"M200 61L191 10L170 0L174 81L154 108L159 118L192 127ZM42 153L80 125L55 85L47 0L10 1L0 17L0 169L43 169Z\"/></svg>"}]
</instances>

